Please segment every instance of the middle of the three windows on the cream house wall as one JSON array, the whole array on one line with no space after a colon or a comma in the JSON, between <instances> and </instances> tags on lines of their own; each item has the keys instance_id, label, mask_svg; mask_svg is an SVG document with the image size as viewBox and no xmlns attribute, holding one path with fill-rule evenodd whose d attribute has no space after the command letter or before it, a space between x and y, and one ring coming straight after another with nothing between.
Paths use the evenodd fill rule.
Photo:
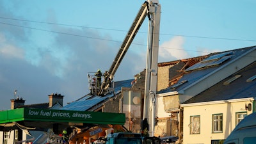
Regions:
<instances>
[{"instance_id":1,"label":"middle of the three windows on the cream house wall","mask_svg":"<svg viewBox=\"0 0 256 144\"><path fill-rule=\"evenodd\" d=\"M223 115L215 114L212 115L212 132L222 132L223 130Z\"/></svg>"}]
</instances>

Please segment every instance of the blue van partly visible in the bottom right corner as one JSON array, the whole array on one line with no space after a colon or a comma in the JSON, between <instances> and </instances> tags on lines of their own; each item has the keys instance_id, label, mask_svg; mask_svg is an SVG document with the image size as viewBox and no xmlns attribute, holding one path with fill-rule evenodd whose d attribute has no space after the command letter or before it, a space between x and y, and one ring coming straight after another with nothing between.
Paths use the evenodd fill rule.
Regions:
<instances>
[{"instance_id":1,"label":"blue van partly visible in the bottom right corner","mask_svg":"<svg viewBox=\"0 0 256 144\"><path fill-rule=\"evenodd\" d=\"M224 144L255 144L256 113L246 116L230 133Z\"/></svg>"}]
</instances>

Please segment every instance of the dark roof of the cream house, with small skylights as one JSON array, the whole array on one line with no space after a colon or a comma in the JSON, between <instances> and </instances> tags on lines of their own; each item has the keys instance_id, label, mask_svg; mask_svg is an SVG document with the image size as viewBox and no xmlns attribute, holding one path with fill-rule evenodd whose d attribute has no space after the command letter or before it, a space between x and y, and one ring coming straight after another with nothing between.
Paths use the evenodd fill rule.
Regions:
<instances>
[{"instance_id":1,"label":"dark roof of the cream house, with small skylights","mask_svg":"<svg viewBox=\"0 0 256 144\"><path fill-rule=\"evenodd\" d=\"M239 93L239 94L237 94ZM183 104L256 97L256 62L223 79Z\"/></svg>"}]
</instances>

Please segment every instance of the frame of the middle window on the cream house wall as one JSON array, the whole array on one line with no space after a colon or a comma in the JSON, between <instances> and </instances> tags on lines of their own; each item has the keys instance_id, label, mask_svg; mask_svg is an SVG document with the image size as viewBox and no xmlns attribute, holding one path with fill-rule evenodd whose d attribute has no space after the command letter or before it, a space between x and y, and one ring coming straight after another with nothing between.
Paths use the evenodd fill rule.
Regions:
<instances>
[{"instance_id":1,"label":"frame of the middle window on the cream house wall","mask_svg":"<svg viewBox=\"0 0 256 144\"><path fill-rule=\"evenodd\" d=\"M219 116L221 116L221 119L218 118ZM222 132L223 132L223 113L212 114L212 133L222 133Z\"/></svg>"}]
</instances>

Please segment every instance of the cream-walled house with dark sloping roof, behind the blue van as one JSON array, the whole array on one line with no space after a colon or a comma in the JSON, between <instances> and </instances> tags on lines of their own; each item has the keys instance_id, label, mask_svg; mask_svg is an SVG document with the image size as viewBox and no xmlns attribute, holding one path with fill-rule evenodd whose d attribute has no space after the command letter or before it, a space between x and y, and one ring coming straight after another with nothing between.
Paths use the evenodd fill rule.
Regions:
<instances>
[{"instance_id":1,"label":"cream-walled house with dark sloping roof, behind the blue van","mask_svg":"<svg viewBox=\"0 0 256 144\"><path fill-rule=\"evenodd\" d=\"M255 112L256 62L181 104L183 143L218 143Z\"/></svg>"}]
</instances>

